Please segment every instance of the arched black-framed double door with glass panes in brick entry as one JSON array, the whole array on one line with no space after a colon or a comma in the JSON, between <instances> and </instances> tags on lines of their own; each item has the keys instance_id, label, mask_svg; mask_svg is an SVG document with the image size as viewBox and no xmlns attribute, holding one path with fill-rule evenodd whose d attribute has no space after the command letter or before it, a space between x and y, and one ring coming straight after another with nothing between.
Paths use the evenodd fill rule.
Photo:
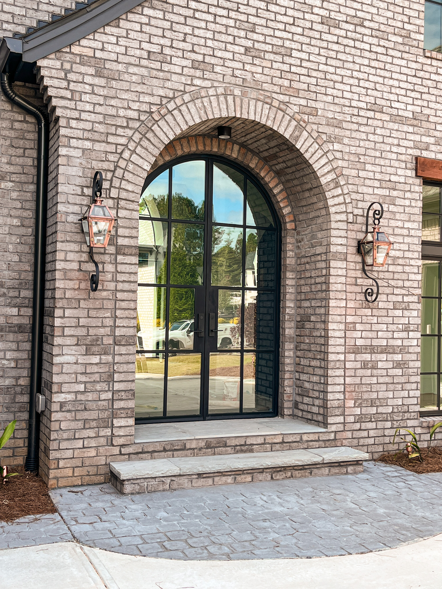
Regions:
<instances>
[{"instance_id":1,"label":"arched black-framed double door with glass panes in brick entry","mask_svg":"<svg viewBox=\"0 0 442 589\"><path fill-rule=\"evenodd\" d=\"M227 160L180 158L140 198L136 419L272 416L279 224Z\"/></svg>"}]
</instances>

